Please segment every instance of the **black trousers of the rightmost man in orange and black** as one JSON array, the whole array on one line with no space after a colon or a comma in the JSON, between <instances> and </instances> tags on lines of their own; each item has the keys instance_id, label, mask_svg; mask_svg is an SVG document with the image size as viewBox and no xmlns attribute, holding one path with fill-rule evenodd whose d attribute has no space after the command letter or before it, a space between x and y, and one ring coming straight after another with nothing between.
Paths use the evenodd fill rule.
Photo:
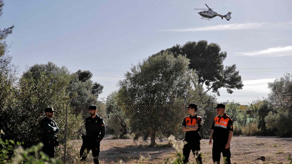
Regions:
<instances>
[{"instance_id":1,"label":"black trousers of the rightmost man in orange and black","mask_svg":"<svg viewBox=\"0 0 292 164\"><path fill-rule=\"evenodd\" d=\"M228 163L231 164L230 162L230 157L231 157L231 153L230 153L230 147L228 149L225 149L225 145L226 143L220 143L220 142L213 142L213 148L212 148L212 158L213 158L213 162L217 162L218 164L220 164L220 158L221 158L221 152L224 158L224 163Z\"/></svg>"}]
</instances>

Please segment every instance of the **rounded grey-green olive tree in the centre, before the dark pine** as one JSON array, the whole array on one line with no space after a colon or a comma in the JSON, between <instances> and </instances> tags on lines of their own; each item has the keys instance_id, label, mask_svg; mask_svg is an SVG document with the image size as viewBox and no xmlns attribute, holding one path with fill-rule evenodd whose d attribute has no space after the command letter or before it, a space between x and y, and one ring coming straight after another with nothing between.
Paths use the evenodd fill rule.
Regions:
<instances>
[{"instance_id":1,"label":"rounded grey-green olive tree in the centre, before the dark pine","mask_svg":"<svg viewBox=\"0 0 292 164\"><path fill-rule=\"evenodd\" d=\"M165 126L181 126L181 102L195 81L195 72L188 69L189 60L163 53L150 56L131 68L119 81L120 100L125 104L135 139L169 135ZM167 121L174 120L174 121ZM159 130L161 129L161 130ZM164 130L162 130L164 129ZM159 133L159 134L157 134Z\"/></svg>"}]
</instances>

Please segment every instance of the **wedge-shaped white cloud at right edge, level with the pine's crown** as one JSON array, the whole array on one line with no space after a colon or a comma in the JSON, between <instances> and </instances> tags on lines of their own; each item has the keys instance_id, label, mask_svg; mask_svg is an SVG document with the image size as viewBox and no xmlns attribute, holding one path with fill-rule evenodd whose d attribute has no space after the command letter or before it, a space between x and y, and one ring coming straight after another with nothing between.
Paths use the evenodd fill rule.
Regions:
<instances>
[{"instance_id":1,"label":"wedge-shaped white cloud at right edge, level with the pine's crown","mask_svg":"<svg viewBox=\"0 0 292 164\"><path fill-rule=\"evenodd\" d=\"M241 52L241 53L235 53L235 54L253 56L253 57L291 56L292 55L292 46L273 47L273 48L268 48L268 49L265 49L265 50Z\"/></svg>"}]
</instances>

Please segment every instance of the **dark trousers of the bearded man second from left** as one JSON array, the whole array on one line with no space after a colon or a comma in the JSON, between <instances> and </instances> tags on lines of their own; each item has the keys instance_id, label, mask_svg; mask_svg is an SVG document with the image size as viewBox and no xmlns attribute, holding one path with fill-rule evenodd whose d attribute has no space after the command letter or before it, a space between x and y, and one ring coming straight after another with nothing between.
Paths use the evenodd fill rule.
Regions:
<instances>
[{"instance_id":1,"label":"dark trousers of the bearded man second from left","mask_svg":"<svg viewBox=\"0 0 292 164\"><path fill-rule=\"evenodd\" d=\"M86 150L86 151L85 151ZM85 161L87 158L87 154L89 151L92 151L93 162L95 164L99 164L98 156L100 151L100 142L99 141L83 141L81 149L80 149L80 158L81 161Z\"/></svg>"}]
</instances>

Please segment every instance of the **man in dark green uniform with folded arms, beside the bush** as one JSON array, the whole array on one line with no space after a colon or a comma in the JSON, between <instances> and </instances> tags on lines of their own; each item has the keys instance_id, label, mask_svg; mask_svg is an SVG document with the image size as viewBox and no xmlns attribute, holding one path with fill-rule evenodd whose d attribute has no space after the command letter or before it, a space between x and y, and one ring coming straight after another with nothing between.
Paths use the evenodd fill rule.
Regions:
<instances>
[{"instance_id":1,"label":"man in dark green uniform with folded arms, beside the bush","mask_svg":"<svg viewBox=\"0 0 292 164\"><path fill-rule=\"evenodd\" d=\"M44 144L42 151L50 158L54 158L55 146L58 145L55 133L60 131L56 122L52 119L54 111L53 107L46 107L46 117L41 120L41 142Z\"/></svg>"}]
</instances>

